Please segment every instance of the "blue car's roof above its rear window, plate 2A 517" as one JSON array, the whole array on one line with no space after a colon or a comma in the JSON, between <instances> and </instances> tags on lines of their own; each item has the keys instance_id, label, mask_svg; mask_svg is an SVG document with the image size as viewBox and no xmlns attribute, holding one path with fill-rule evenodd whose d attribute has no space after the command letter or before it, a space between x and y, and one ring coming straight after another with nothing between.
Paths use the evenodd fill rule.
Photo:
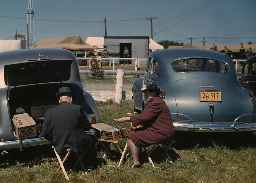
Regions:
<instances>
[{"instance_id":1,"label":"blue car's roof above its rear window, plate 2A 517","mask_svg":"<svg viewBox=\"0 0 256 183\"><path fill-rule=\"evenodd\" d=\"M212 58L232 64L231 59L221 52L198 48L169 48L153 51L150 53L150 55L157 59L163 68L170 68L170 62L176 59L191 57Z\"/></svg>"}]
</instances>

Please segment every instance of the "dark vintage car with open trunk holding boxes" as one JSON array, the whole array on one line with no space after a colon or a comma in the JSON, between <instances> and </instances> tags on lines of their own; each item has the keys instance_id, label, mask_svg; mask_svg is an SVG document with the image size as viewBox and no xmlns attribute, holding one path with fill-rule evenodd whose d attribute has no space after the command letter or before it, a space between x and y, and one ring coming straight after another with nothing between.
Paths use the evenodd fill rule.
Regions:
<instances>
[{"instance_id":1,"label":"dark vintage car with open trunk holding boxes","mask_svg":"<svg viewBox=\"0 0 256 183\"><path fill-rule=\"evenodd\" d=\"M0 73L0 152L49 143L41 136L45 111L40 110L58 104L56 93L63 86L69 86L76 94L74 103L83 107L91 123L101 122L93 97L84 91L71 51L35 48L1 52ZM36 123L35 137L18 138L14 131L12 118L23 110Z\"/></svg>"}]
</instances>

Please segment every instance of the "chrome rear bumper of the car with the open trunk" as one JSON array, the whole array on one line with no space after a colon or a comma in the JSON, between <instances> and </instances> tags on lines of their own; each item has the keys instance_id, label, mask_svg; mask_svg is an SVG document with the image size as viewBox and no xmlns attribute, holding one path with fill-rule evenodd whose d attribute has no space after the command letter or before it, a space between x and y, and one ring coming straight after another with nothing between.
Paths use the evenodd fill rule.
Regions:
<instances>
[{"instance_id":1,"label":"chrome rear bumper of the car with the open trunk","mask_svg":"<svg viewBox=\"0 0 256 183\"><path fill-rule=\"evenodd\" d=\"M6 150L6 149L20 148L20 150L22 151L22 147L31 147L31 146L45 145L45 144L50 144L50 143L44 137L37 137L33 139L24 139L22 140L22 144L20 144L19 140L0 142L0 149Z\"/></svg>"}]
</instances>

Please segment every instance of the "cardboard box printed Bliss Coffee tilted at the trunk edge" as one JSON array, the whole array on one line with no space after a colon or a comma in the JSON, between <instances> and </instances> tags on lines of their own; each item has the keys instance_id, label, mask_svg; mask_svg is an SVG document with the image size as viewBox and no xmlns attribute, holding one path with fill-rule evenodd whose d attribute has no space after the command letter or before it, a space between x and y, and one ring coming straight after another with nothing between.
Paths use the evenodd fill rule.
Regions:
<instances>
[{"instance_id":1,"label":"cardboard box printed Bliss Coffee tilted at the trunk edge","mask_svg":"<svg viewBox=\"0 0 256 183\"><path fill-rule=\"evenodd\" d=\"M12 122L17 137L19 137L19 133L21 139L37 136L36 123L29 114L15 114L12 118Z\"/></svg>"}]
</instances>

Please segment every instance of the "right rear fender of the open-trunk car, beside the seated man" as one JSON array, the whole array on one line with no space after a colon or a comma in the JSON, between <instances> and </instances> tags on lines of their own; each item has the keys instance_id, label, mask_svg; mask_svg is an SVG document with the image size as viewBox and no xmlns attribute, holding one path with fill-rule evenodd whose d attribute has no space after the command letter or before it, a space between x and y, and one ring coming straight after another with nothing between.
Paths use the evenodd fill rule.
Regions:
<instances>
[{"instance_id":1,"label":"right rear fender of the open-trunk car, beside the seated man","mask_svg":"<svg viewBox=\"0 0 256 183\"><path fill-rule=\"evenodd\" d=\"M94 116L96 123L101 122L101 116L99 115L98 107L90 93L84 91L85 103L86 103L86 117L91 122L91 116Z\"/></svg>"}]
</instances>

